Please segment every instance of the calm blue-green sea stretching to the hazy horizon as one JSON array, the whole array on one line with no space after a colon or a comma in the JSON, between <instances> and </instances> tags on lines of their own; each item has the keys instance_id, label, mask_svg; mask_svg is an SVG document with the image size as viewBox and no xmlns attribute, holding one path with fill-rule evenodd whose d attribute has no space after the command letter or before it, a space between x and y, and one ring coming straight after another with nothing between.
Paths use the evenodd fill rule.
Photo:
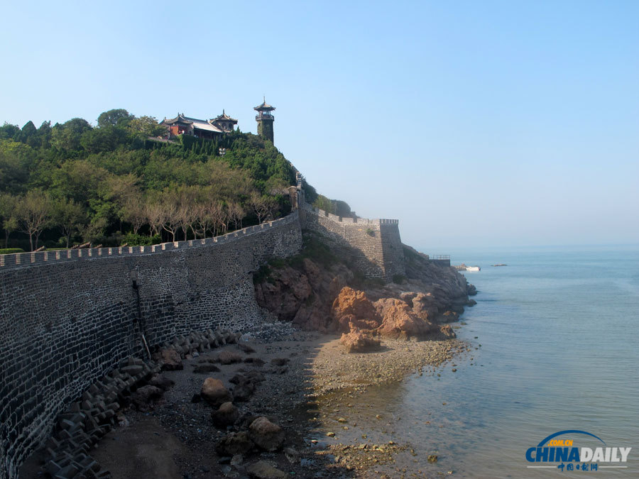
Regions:
<instances>
[{"instance_id":1,"label":"calm blue-green sea stretching to the hazy horizon","mask_svg":"<svg viewBox=\"0 0 639 479\"><path fill-rule=\"evenodd\" d=\"M362 398L391 417L362 422L369 439L410 444L379 473L639 477L639 246L450 253L452 264L481 267L463 273L477 304L453 324L470 351ZM628 462L570 472L566 461L526 460L528 448L560 431L588 433L555 438L579 448L631 447Z\"/></svg>"}]
</instances>

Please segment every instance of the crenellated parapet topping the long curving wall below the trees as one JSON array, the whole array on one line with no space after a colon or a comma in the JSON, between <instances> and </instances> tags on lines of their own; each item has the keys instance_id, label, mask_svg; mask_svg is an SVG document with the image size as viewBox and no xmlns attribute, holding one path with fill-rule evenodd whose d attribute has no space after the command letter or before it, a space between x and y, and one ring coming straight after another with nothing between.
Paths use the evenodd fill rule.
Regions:
<instances>
[{"instance_id":1,"label":"crenellated parapet topping the long curving wall below the trees","mask_svg":"<svg viewBox=\"0 0 639 479\"><path fill-rule=\"evenodd\" d=\"M215 243L226 243L233 241L235 238L244 238L253 233L260 233L273 228L273 226L284 226L293 221L298 220L299 212L285 216L284 218L268 221L267 223L255 226L247 226L238 231L231 231L222 236L214 238L201 238L187 241L173 241L170 243L160 243L152 246L116 246L114 248L82 248L76 250L54 250L39 251L38 253L12 253L8 255L0 255L0 268L24 268L31 265L42 265L46 263L58 263L61 261L84 260L96 258L118 257L125 255L152 254L166 250L180 250L184 248L197 248L200 246L211 246Z\"/></svg>"}]
</instances>

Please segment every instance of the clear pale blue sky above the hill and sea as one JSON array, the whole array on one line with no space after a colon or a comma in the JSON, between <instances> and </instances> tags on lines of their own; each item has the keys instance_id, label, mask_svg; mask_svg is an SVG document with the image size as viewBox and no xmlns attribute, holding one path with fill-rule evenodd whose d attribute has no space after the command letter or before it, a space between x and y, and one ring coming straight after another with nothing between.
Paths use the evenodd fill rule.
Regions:
<instances>
[{"instance_id":1,"label":"clear pale blue sky above the hill and sea","mask_svg":"<svg viewBox=\"0 0 639 479\"><path fill-rule=\"evenodd\" d=\"M639 243L639 2L11 2L0 122L222 109L447 248Z\"/></svg>"}]
</instances>

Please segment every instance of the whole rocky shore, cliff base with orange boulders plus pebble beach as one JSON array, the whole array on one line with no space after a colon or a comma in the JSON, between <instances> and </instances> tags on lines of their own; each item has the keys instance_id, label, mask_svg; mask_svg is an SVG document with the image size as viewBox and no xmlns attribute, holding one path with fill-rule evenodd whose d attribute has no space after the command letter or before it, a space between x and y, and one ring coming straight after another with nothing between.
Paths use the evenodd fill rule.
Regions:
<instances>
[{"instance_id":1,"label":"whole rocky shore, cliff base with orange boulders plus pebble beach","mask_svg":"<svg viewBox=\"0 0 639 479\"><path fill-rule=\"evenodd\" d=\"M383 284L358 276L347 250L305 241L297 257L256 273L261 326L192 334L155 352L161 375L118 395L113 429L92 446L102 470L124 479L422 475L393 469L396 456L415 456L412 444L368 438L369 427L391 434L393 424L383 404L366 401L384 387L395 394L408 375L435 379L448 363L455 372L471 349L450 323L476 291L408 246L407 277ZM35 454L21 477L44 477L44 462Z\"/></svg>"}]
</instances>

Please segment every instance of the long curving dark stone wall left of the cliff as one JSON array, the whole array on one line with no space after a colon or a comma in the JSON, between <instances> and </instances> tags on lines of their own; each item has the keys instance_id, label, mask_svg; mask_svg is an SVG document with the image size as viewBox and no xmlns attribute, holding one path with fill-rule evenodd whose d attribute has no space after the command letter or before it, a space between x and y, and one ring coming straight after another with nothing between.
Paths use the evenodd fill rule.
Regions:
<instances>
[{"instance_id":1,"label":"long curving dark stone wall left of the cliff","mask_svg":"<svg viewBox=\"0 0 639 479\"><path fill-rule=\"evenodd\" d=\"M17 476L92 382L141 356L141 329L153 346L261 321L251 272L301 245L295 211L206 240L1 255L0 478Z\"/></svg>"}]
</instances>

